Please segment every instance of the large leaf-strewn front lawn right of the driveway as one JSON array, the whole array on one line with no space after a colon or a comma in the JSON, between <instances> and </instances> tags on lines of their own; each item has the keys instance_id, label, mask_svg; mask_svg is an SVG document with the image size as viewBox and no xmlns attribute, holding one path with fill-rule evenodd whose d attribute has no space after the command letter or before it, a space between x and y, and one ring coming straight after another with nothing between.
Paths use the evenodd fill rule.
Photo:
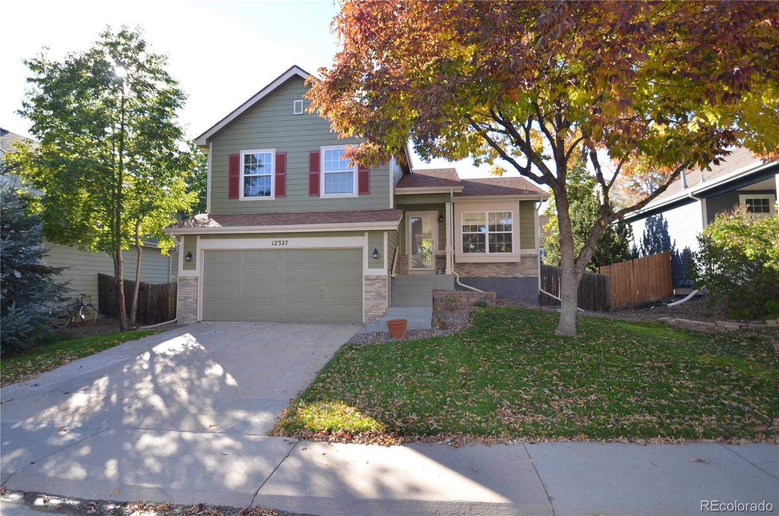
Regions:
<instances>
[{"instance_id":1,"label":"large leaf-strewn front lawn right of the driveway","mask_svg":"<svg viewBox=\"0 0 779 516\"><path fill-rule=\"evenodd\" d=\"M554 334L557 320L536 309L478 309L460 334L344 345L274 432L779 438L775 330L698 334L580 316L580 335L566 338Z\"/></svg>"}]
</instances>

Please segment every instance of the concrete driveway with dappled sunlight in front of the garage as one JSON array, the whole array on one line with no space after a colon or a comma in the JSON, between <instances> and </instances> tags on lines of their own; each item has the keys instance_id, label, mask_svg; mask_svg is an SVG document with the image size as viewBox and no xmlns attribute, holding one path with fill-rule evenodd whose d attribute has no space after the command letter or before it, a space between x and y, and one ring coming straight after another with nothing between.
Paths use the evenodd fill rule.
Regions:
<instances>
[{"instance_id":1,"label":"concrete driveway with dappled sunlight in front of the garage","mask_svg":"<svg viewBox=\"0 0 779 516\"><path fill-rule=\"evenodd\" d=\"M26 468L26 475L41 478L42 485L31 486L39 490L51 490L55 478L81 487L90 481L110 484L111 478L126 473L120 471L122 463L131 460L141 485L153 485L155 476L178 475L182 487L191 489L191 484L183 485L189 478L185 472L208 472L199 475L206 499L226 483L240 490L252 472L265 475L266 469L272 470L292 444L274 439L273 445L263 446L266 461L254 457L252 464L238 467L232 461L231 468L220 468L219 458L241 455L238 444L271 439L263 434L273 427L289 399L360 328L358 324L199 323L4 387L0 482ZM79 449L85 458L79 465L39 463L83 440L90 444ZM76 466L83 471L73 472ZM97 497L111 495L104 493L102 484L93 487ZM58 490L70 491L63 489ZM168 498L154 490L147 494L151 499Z\"/></svg>"}]
</instances>

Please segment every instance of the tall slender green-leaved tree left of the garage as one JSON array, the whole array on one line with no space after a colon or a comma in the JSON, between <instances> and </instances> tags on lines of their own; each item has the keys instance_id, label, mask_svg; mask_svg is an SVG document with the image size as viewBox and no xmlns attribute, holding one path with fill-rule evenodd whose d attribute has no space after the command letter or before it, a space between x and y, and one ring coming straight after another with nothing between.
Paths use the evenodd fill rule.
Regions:
<instances>
[{"instance_id":1,"label":"tall slender green-leaved tree left of the garage","mask_svg":"<svg viewBox=\"0 0 779 516\"><path fill-rule=\"evenodd\" d=\"M39 141L19 145L9 159L43 193L47 239L114 259L126 330L122 250L147 235L167 249L172 243L158 229L192 202L178 196L191 164L176 118L185 94L165 70L167 58L127 27L106 30L62 62L41 55L25 64L31 87L19 113Z\"/></svg>"}]
</instances>

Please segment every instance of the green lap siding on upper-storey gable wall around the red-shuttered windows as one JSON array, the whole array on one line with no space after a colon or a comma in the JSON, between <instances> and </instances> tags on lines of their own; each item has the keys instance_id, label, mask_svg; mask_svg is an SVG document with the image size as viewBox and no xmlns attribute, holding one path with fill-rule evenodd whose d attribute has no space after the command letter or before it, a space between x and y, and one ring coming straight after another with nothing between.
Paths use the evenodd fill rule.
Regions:
<instances>
[{"instance_id":1,"label":"green lap siding on upper-storey gable wall around the red-shuttered windows","mask_svg":"<svg viewBox=\"0 0 779 516\"><path fill-rule=\"evenodd\" d=\"M292 101L308 89L294 78L213 140L211 156L211 213L384 210L390 208L390 164L371 169L371 193L357 197L320 199L308 196L308 151L324 145L357 144L357 138L338 139L330 122L316 114L292 115ZM308 108L308 100L304 106ZM287 153L287 196L275 200L227 198L228 157L241 150L276 149Z\"/></svg>"}]
</instances>

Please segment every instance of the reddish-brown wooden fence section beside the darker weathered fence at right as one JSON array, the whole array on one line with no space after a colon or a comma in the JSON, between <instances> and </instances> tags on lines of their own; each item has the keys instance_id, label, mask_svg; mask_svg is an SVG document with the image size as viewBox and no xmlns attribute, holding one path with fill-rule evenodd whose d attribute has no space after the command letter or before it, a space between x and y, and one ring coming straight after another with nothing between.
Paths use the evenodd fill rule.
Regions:
<instances>
[{"instance_id":1,"label":"reddish-brown wooden fence section beside the darker weathered fence at right","mask_svg":"<svg viewBox=\"0 0 779 516\"><path fill-rule=\"evenodd\" d=\"M601 274L612 277L612 308L667 298L674 293L670 251L605 265Z\"/></svg>"}]
</instances>

